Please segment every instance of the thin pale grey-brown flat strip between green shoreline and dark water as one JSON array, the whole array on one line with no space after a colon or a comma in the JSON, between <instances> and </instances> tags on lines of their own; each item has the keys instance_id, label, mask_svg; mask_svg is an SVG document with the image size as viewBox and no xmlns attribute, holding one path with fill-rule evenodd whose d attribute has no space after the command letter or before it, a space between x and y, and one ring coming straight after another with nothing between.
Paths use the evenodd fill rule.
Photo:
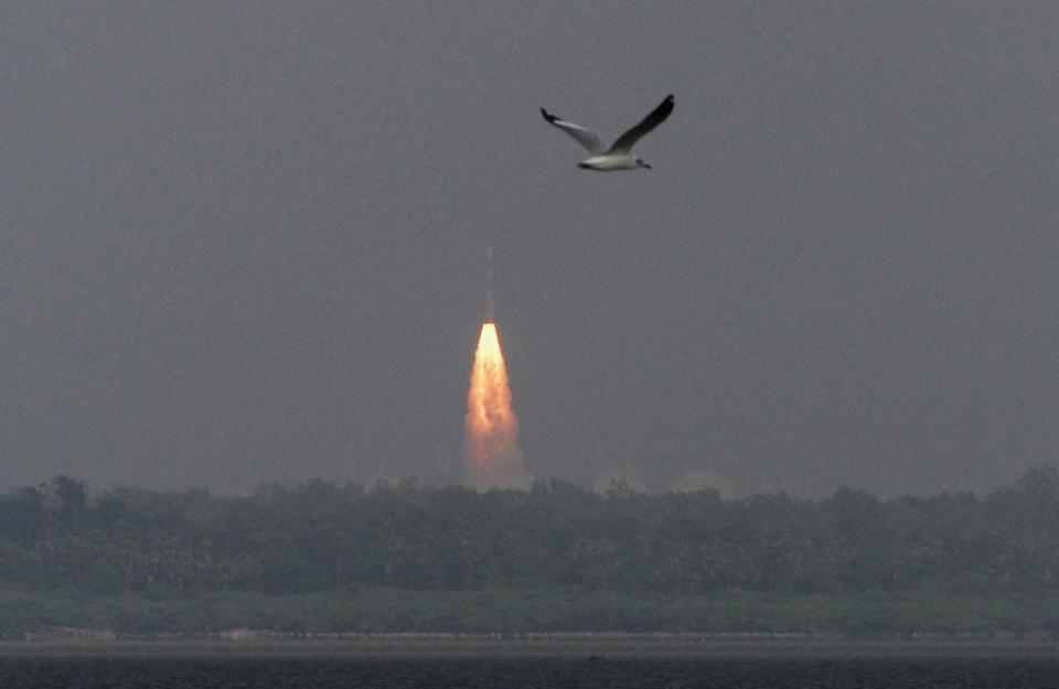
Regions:
<instances>
[{"instance_id":1,"label":"thin pale grey-brown flat strip between green shoreline and dark water","mask_svg":"<svg viewBox=\"0 0 1059 689\"><path fill-rule=\"evenodd\" d=\"M343 634L268 638L44 638L0 642L2 657L553 657L616 658L1059 658L1059 639L844 639L800 634Z\"/></svg>"}]
</instances>

